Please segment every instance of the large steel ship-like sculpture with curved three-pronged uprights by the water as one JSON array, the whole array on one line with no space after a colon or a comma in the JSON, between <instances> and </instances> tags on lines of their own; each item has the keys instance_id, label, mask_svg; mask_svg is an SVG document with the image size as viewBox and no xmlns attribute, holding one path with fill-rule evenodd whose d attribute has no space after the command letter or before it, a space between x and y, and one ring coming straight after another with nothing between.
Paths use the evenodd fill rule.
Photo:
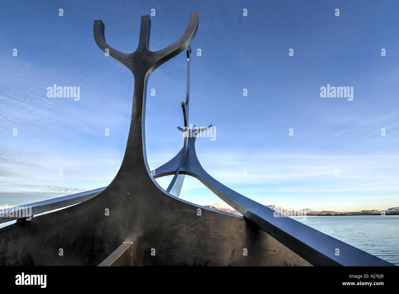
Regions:
<instances>
[{"instance_id":1,"label":"large steel ship-like sculpture with curved three-pronged uprights by the water","mask_svg":"<svg viewBox=\"0 0 399 294\"><path fill-rule=\"evenodd\" d=\"M31 221L4 218L18 220L0 230L0 265L392 265L222 185L201 167L197 135L184 136L180 152L150 171L144 130L147 81L156 68L184 50L187 94L182 102L184 127L178 129L197 134L212 127L188 129L190 43L198 29L198 12L191 12L176 42L155 52L149 49L149 16L141 17L138 47L130 54L109 46L104 29L101 20L94 22L95 42L134 75L120 169L108 187L32 204L34 214L40 215ZM155 181L165 175L174 175L166 191ZM185 175L199 179L244 217L179 199ZM68 205L72 206L63 208ZM60 210L41 214L55 209ZM339 256L335 248L340 248Z\"/></svg>"}]
</instances>

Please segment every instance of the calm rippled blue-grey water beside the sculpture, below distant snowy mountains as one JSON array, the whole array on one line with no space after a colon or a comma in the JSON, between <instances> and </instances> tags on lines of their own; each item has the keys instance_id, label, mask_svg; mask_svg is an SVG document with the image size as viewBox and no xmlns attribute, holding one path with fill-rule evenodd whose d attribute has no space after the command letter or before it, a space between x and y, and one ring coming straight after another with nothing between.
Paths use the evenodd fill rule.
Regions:
<instances>
[{"instance_id":1,"label":"calm rippled blue-grey water beside the sculpture, below distant snowy mountains","mask_svg":"<svg viewBox=\"0 0 399 294\"><path fill-rule=\"evenodd\" d=\"M399 215L292 218L399 266Z\"/></svg>"}]
</instances>

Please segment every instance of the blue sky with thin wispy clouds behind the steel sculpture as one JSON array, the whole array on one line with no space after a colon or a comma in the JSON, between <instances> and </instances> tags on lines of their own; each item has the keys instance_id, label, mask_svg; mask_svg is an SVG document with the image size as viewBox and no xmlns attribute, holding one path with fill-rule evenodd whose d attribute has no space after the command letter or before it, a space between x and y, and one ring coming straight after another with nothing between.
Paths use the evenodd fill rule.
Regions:
<instances>
[{"instance_id":1,"label":"blue sky with thin wispy clouds behind the steel sculpture","mask_svg":"<svg viewBox=\"0 0 399 294\"><path fill-rule=\"evenodd\" d=\"M126 145L134 79L97 47L93 22L103 20L107 43L130 53L138 44L140 16L154 8L153 51L177 40L190 11L199 12L191 44L190 123L215 127L214 141L196 142L201 164L215 179L265 205L336 211L399 206L398 6L396 1L3 2L0 205L112 181ZM290 48L294 56L288 56ZM156 89L155 96L147 92L151 169L182 147L176 126L183 124L185 54L160 66L148 81L148 89ZM80 100L48 98L53 84L79 86ZM321 98L320 87L327 84L354 87L353 101ZM170 179L159 183L166 188ZM181 198L222 203L188 176Z\"/></svg>"}]
</instances>

